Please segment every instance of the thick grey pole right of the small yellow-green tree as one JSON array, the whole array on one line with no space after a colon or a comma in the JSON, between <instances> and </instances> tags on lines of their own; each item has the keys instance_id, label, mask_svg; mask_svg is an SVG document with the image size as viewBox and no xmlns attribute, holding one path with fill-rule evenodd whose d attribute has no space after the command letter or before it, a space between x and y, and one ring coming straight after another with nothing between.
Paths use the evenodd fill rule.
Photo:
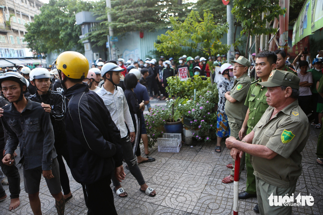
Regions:
<instances>
[{"instance_id":1,"label":"thick grey pole right of the small yellow-green tree","mask_svg":"<svg viewBox=\"0 0 323 215\"><path fill-rule=\"evenodd\" d=\"M227 54L227 61L230 63L234 58L234 25L233 25L233 14L231 13L233 7L232 1L226 5L226 21L229 24L229 30L227 34L227 45L230 46L229 52Z\"/></svg>"}]
</instances>

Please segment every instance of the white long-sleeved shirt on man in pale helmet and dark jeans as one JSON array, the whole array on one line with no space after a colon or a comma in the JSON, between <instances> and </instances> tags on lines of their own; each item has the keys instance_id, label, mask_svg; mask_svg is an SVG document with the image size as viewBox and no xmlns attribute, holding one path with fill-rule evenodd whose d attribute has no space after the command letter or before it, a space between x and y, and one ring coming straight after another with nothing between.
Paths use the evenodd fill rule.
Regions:
<instances>
[{"instance_id":1,"label":"white long-sleeved shirt on man in pale helmet and dark jeans","mask_svg":"<svg viewBox=\"0 0 323 215\"><path fill-rule=\"evenodd\" d=\"M134 132L135 127L133 126L128 103L122 88L118 87L118 90L114 89L112 94L102 85L100 90L98 90L96 93L102 98L105 106L108 108L112 120L120 130L121 138L126 137L128 134L126 123L129 131Z\"/></svg>"}]
</instances>

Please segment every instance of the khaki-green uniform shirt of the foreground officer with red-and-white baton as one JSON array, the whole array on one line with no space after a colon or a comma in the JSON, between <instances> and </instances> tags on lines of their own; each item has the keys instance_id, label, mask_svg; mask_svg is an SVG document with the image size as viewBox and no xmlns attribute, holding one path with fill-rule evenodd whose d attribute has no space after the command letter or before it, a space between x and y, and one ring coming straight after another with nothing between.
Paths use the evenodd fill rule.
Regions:
<instances>
[{"instance_id":1,"label":"khaki-green uniform shirt of the foreground officer with red-and-white baton","mask_svg":"<svg viewBox=\"0 0 323 215\"><path fill-rule=\"evenodd\" d=\"M252 144L266 146L277 155L270 160L250 156L250 160L255 176L277 187L288 188L296 185L302 173L301 151L309 136L308 119L297 100L270 119L273 111L273 107L267 108L256 124Z\"/></svg>"}]
</instances>

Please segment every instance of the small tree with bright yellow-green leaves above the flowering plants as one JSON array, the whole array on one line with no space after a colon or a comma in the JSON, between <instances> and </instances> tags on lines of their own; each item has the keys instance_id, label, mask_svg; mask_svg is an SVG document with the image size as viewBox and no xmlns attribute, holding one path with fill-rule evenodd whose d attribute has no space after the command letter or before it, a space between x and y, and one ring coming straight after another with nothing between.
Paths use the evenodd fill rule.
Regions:
<instances>
[{"instance_id":1,"label":"small tree with bright yellow-green leaves above the flowering plants","mask_svg":"<svg viewBox=\"0 0 323 215\"><path fill-rule=\"evenodd\" d=\"M172 30L158 36L160 44L154 43L154 47L166 55L176 55L182 47L191 47L201 50L206 56L225 54L229 46L222 44L220 39L228 32L228 25L216 24L211 11L204 10L203 18L199 12L191 11L184 22L171 17ZM206 57L207 58L207 57ZM213 64L210 62L212 68ZM213 81L211 73L211 81Z\"/></svg>"}]
</instances>

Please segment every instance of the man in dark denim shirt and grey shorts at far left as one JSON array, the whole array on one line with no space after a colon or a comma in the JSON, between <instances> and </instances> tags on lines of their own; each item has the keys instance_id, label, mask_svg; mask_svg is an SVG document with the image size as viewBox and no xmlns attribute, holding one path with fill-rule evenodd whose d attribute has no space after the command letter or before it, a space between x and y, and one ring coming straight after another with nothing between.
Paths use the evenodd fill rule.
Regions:
<instances>
[{"instance_id":1,"label":"man in dark denim shirt and grey shorts at far left","mask_svg":"<svg viewBox=\"0 0 323 215\"><path fill-rule=\"evenodd\" d=\"M57 154L54 148L54 131L47 106L25 98L26 79L15 72L0 77L1 93L11 104L4 107L1 118L8 136L2 162L13 165L13 153L18 144L24 167L25 191L34 214L42 214L39 200L41 174L55 198L58 214L64 214L65 200L59 182ZM45 111L44 111L45 110Z\"/></svg>"}]
</instances>

